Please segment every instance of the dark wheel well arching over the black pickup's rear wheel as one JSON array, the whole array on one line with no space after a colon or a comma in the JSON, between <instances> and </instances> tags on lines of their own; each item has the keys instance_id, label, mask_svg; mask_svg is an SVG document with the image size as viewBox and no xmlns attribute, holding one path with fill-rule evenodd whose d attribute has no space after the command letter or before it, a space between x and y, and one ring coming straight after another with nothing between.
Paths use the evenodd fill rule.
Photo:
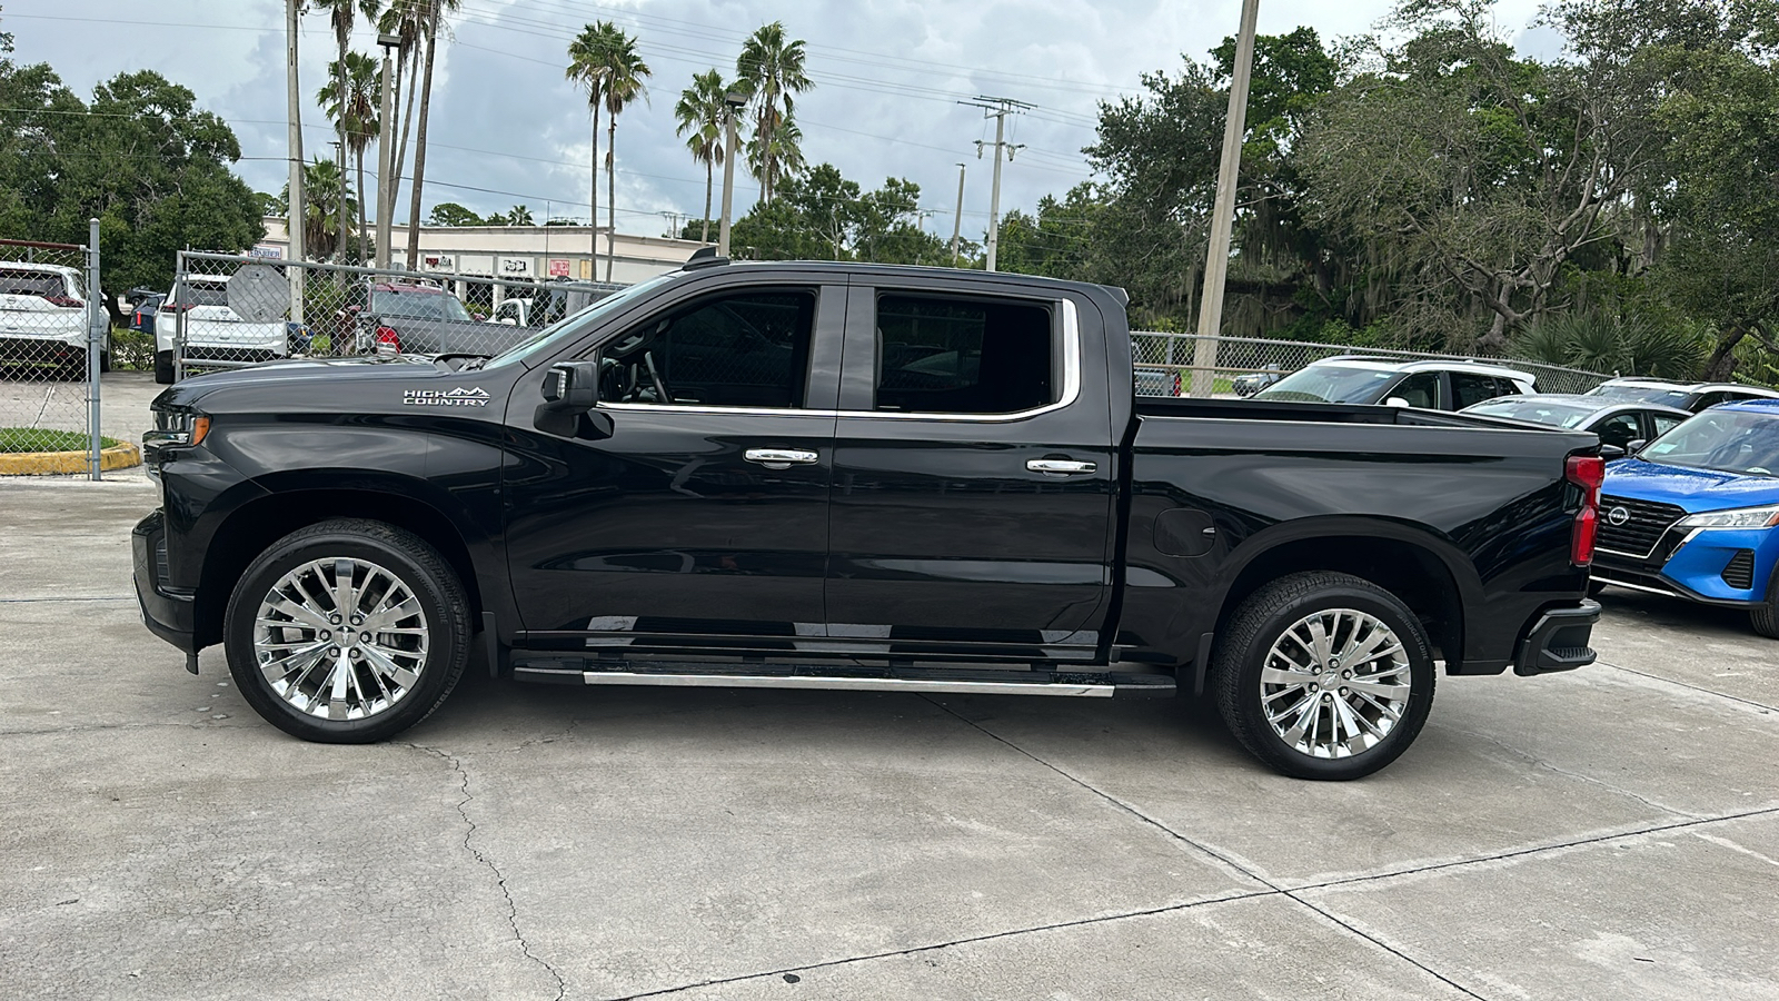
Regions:
<instances>
[{"instance_id":1,"label":"dark wheel well arching over the black pickup's rear wheel","mask_svg":"<svg viewBox=\"0 0 1779 1001\"><path fill-rule=\"evenodd\" d=\"M1448 664L1464 657L1464 606L1445 561L1411 541L1377 536L1304 538L1268 549L1236 575L1217 613L1217 632L1249 595L1304 570L1352 574L1384 588L1421 620L1436 657Z\"/></svg>"}]
</instances>

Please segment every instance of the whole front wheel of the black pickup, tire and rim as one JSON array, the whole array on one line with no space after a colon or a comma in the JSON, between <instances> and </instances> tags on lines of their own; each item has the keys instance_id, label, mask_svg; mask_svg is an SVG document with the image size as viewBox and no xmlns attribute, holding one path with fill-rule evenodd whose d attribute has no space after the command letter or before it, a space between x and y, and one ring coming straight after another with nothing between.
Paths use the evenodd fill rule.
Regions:
<instances>
[{"instance_id":1,"label":"whole front wheel of the black pickup, tire and rim","mask_svg":"<svg viewBox=\"0 0 1779 1001\"><path fill-rule=\"evenodd\" d=\"M286 534L224 618L229 673L274 727L363 745L425 720L470 661L470 600L420 536L366 518Z\"/></svg>"}]
</instances>

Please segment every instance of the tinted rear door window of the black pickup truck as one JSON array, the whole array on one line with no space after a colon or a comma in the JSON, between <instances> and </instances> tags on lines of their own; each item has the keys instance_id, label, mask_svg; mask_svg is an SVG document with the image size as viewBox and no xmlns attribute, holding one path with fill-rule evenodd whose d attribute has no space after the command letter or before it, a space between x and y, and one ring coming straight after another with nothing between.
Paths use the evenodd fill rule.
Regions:
<instances>
[{"instance_id":1,"label":"tinted rear door window of the black pickup truck","mask_svg":"<svg viewBox=\"0 0 1779 1001\"><path fill-rule=\"evenodd\" d=\"M1050 310L1028 303L877 297L877 410L1018 413L1053 403Z\"/></svg>"}]
</instances>

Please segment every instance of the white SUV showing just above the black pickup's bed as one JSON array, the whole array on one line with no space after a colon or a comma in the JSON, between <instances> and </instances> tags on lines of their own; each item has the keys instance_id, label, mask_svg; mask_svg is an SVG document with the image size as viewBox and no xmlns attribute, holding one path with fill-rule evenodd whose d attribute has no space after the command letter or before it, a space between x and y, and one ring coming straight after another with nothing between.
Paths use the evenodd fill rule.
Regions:
<instances>
[{"instance_id":1,"label":"white SUV showing just above the black pickup's bed","mask_svg":"<svg viewBox=\"0 0 1779 1001\"><path fill-rule=\"evenodd\" d=\"M1535 381L1528 372L1480 362L1402 362L1343 354L1299 369L1251 399L1462 410L1498 395L1535 392Z\"/></svg>"}]
</instances>

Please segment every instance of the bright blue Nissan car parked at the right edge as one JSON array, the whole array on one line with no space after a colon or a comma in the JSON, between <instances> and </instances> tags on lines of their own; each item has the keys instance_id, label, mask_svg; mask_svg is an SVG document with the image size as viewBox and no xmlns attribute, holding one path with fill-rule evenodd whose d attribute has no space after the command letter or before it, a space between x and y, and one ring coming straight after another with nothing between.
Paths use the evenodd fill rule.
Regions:
<instances>
[{"instance_id":1,"label":"bright blue Nissan car parked at the right edge","mask_svg":"<svg viewBox=\"0 0 1779 1001\"><path fill-rule=\"evenodd\" d=\"M1713 406L1606 465L1596 584L1743 607L1779 639L1775 568L1779 401Z\"/></svg>"}]
</instances>

